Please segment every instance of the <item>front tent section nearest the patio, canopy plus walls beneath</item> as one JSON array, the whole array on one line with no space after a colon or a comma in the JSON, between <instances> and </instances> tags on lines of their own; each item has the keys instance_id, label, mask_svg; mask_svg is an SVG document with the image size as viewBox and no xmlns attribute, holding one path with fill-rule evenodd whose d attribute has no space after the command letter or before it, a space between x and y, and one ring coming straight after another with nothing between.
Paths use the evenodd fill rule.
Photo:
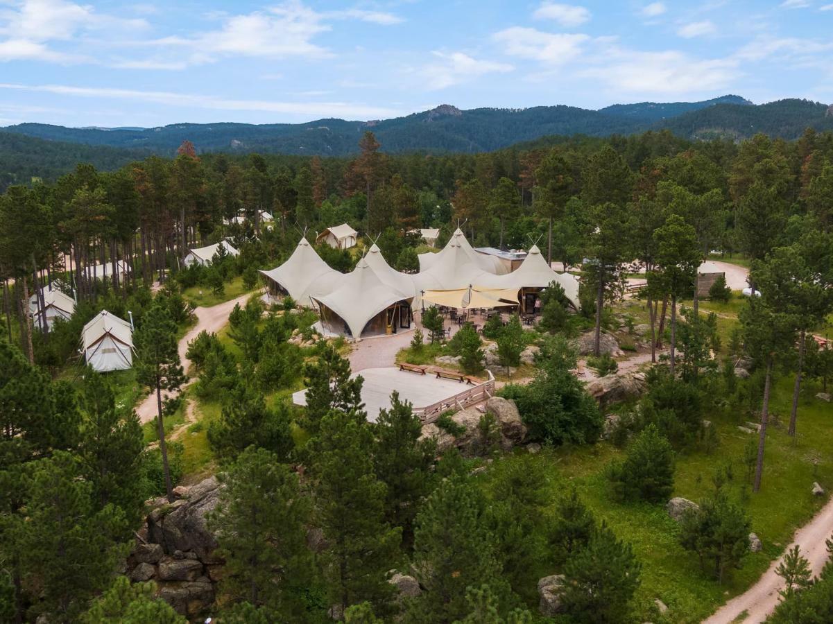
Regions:
<instances>
[{"instance_id":1,"label":"front tent section nearest the patio, canopy plus walls beneath","mask_svg":"<svg viewBox=\"0 0 833 624\"><path fill-rule=\"evenodd\" d=\"M413 292L401 292L382 282L367 260L362 258L332 292L312 297L321 313L327 333L380 336L411 327Z\"/></svg>"}]
</instances>

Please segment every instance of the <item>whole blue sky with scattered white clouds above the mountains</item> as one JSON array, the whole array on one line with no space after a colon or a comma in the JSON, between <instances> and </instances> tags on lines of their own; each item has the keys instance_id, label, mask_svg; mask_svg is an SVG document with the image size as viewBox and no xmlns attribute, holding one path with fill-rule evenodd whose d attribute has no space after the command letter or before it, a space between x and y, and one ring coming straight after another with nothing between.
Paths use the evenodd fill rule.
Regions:
<instances>
[{"instance_id":1,"label":"whole blue sky with scattered white clouds above the mountains","mask_svg":"<svg viewBox=\"0 0 833 624\"><path fill-rule=\"evenodd\" d=\"M833 102L833 0L0 0L0 126Z\"/></svg>"}]
</instances>

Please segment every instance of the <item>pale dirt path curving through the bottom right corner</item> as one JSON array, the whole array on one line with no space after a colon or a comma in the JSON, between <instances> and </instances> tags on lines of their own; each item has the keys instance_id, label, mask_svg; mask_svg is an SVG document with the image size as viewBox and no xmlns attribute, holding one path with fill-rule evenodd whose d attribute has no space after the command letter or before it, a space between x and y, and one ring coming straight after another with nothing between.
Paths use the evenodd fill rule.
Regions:
<instances>
[{"instance_id":1,"label":"pale dirt path curving through the bottom right corner","mask_svg":"<svg viewBox=\"0 0 833 624\"><path fill-rule=\"evenodd\" d=\"M831 533L833 533L833 499L821 508L821 511L813 517L811 522L796 531L794 542L785 549L785 552L794 546L801 548L801 554L810 562L811 570L815 576L821 572L821 568L827 562L825 540L831 537ZM776 574L776 567L780 562L780 558L772 562L769 570L758 579L755 585L740 596L726 602L723 607L705 621L705 624L729 624L744 612L746 612L746 618L743 619L744 624L764 622L766 617L778 605L781 598L778 595L778 590L784 587L784 579Z\"/></svg>"}]
</instances>

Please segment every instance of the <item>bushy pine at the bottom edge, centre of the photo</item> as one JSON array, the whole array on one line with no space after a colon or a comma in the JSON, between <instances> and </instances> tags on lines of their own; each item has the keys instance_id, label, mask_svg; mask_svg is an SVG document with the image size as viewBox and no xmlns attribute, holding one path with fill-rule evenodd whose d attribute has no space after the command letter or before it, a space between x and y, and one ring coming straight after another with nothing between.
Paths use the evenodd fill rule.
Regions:
<instances>
[{"instance_id":1,"label":"bushy pine at the bottom edge, centre of the photo","mask_svg":"<svg viewBox=\"0 0 833 624\"><path fill-rule=\"evenodd\" d=\"M466 477L452 475L416 517L413 568L426 592L414 609L423 622L454 622L468 614L466 589L486 583L506 595L486 501Z\"/></svg>"}]
</instances>

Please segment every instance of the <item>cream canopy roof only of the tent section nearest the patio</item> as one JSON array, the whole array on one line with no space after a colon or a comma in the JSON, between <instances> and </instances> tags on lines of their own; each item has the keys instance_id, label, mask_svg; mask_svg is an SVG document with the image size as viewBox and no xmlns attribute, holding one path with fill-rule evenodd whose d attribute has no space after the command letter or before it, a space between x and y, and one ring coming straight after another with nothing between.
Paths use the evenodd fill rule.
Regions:
<instances>
[{"instance_id":1,"label":"cream canopy roof only of the tent section nearest the patio","mask_svg":"<svg viewBox=\"0 0 833 624\"><path fill-rule=\"evenodd\" d=\"M393 303L403 299L411 302L414 298L412 291L400 292L382 282L364 258L342 278L336 290L312 298L342 317L354 338L362 336L367 322L379 312Z\"/></svg>"}]
</instances>

